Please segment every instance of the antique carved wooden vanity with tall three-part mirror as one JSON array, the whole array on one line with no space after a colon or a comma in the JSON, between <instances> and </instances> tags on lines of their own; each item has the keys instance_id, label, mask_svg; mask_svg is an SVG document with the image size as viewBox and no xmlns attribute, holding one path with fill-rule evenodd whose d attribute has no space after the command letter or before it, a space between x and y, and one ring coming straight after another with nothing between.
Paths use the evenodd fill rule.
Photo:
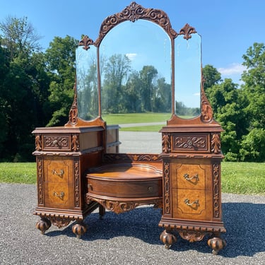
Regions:
<instances>
[{"instance_id":1,"label":"antique carved wooden vanity with tall three-part mirror","mask_svg":"<svg viewBox=\"0 0 265 265\"><path fill-rule=\"evenodd\" d=\"M160 105L171 105L160 129L159 153L119 152L119 125L104 120L107 113L120 113L117 107L122 102L114 94L122 95L121 89L131 88L127 81L126 85L119 83L117 92L107 90L110 76L105 69L111 65L104 63L104 58L117 53L126 54L125 59L130 59L136 70L139 61L140 69L155 65L164 83L170 83L163 86L170 95L169 103L165 104L162 96L156 98ZM107 81L109 86L104 83ZM86 232L83 220L98 207L104 216L105 209L123 213L154 205L162 210L158 225L165 228L160 235L165 247L177 241L178 232L190 242L209 235L213 254L223 249L222 129L213 119L203 85L201 37L188 24L177 33L163 11L132 2L102 22L95 42L84 36L76 49L75 97L69 122L33 131L38 199L35 215L40 216L36 226L42 234L52 224L60 228L75 221L72 230L81 237ZM188 114L187 119L179 102L190 106L186 110L197 112L193 117Z\"/></svg>"}]
</instances>

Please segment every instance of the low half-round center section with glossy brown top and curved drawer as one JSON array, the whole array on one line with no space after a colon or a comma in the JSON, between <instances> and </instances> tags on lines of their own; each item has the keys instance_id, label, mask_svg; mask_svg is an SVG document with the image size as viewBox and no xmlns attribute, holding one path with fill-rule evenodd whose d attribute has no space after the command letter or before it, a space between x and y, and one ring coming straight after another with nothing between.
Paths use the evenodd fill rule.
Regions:
<instances>
[{"instance_id":1,"label":"low half-round center section with glossy brown top and curved drawer","mask_svg":"<svg viewBox=\"0 0 265 265\"><path fill-rule=\"evenodd\" d=\"M88 172L88 194L119 198L162 196L162 171L144 164L113 164Z\"/></svg>"}]
</instances>

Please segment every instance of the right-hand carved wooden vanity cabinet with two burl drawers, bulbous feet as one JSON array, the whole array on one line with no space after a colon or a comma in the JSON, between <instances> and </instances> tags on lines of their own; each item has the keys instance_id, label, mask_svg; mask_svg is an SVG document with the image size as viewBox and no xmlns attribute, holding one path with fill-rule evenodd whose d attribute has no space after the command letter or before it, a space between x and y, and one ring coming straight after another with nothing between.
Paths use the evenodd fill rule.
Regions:
<instances>
[{"instance_id":1,"label":"right-hand carved wooden vanity cabinet with two burl drawers, bulbous feet","mask_svg":"<svg viewBox=\"0 0 265 265\"><path fill-rule=\"evenodd\" d=\"M165 126L161 130L163 216L159 225L165 230L160 239L169 248L177 241L174 232L190 242L210 235L208 245L217 254L225 247L220 238L220 233L225 232L220 185L222 129L216 122L209 126L195 119L194 123L197 122L197 126Z\"/></svg>"}]
</instances>

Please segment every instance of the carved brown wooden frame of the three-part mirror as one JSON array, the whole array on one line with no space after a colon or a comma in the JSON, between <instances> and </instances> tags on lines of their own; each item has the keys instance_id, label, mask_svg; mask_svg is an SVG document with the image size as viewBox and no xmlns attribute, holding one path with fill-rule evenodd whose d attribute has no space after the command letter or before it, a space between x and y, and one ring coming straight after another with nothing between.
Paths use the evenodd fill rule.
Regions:
<instances>
[{"instance_id":1,"label":"carved brown wooden frame of the three-part mirror","mask_svg":"<svg viewBox=\"0 0 265 265\"><path fill-rule=\"evenodd\" d=\"M65 126L106 126L106 123L101 117L101 81L100 81L100 54L99 47L100 43L104 39L105 35L112 30L116 25L124 21L135 22L136 20L143 19L149 20L157 25L160 25L163 30L167 33L171 40L171 66L172 66L172 77L171 77L171 89L172 89L172 117L167 120L167 125L175 124L201 124L209 123L213 120L213 111L208 99L204 93L204 76L202 75L201 66L201 85L200 85L200 97L201 97L201 114L198 117L192 119L182 119L175 114L175 38L178 35L183 35L185 40L189 40L193 33L197 33L195 28L189 24L184 25L184 27L177 33L171 26L170 18L167 14L155 8L144 8L143 6L136 4L136 2L131 2L129 6L126 6L121 12L115 13L111 16L105 18L100 26L100 33L98 39L93 42L87 35L83 36L83 39L78 43L78 46L83 46L83 49L90 49L90 45L97 47L97 60L98 60L98 100L99 100L99 110L98 117L92 121L84 121L78 117L78 107L77 107L77 90L76 83L74 86L74 99L69 112L69 122Z\"/></svg>"}]
</instances>

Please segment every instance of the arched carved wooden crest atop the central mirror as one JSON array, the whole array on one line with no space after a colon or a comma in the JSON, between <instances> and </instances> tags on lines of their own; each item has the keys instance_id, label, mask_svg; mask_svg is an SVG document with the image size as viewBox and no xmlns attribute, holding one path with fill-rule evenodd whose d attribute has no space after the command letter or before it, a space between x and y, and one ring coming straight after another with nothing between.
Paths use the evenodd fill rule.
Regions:
<instances>
[{"instance_id":1,"label":"arched carved wooden crest atop the central mirror","mask_svg":"<svg viewBox=\"0 0 265 265\"><path fill-rule=\"evenodd\" d=\"M99 46L105 35L119 23L127 20L135 22L138 19L151 20L153 23L160 25L172 39L177 37L177 33L172 29L170 19L164 11L154 8L144 8L136 4L136 2L132 2L122 12L105 18L100 26L100 35L95 41L95 45Z\"/></svg>"}]
</instances>

